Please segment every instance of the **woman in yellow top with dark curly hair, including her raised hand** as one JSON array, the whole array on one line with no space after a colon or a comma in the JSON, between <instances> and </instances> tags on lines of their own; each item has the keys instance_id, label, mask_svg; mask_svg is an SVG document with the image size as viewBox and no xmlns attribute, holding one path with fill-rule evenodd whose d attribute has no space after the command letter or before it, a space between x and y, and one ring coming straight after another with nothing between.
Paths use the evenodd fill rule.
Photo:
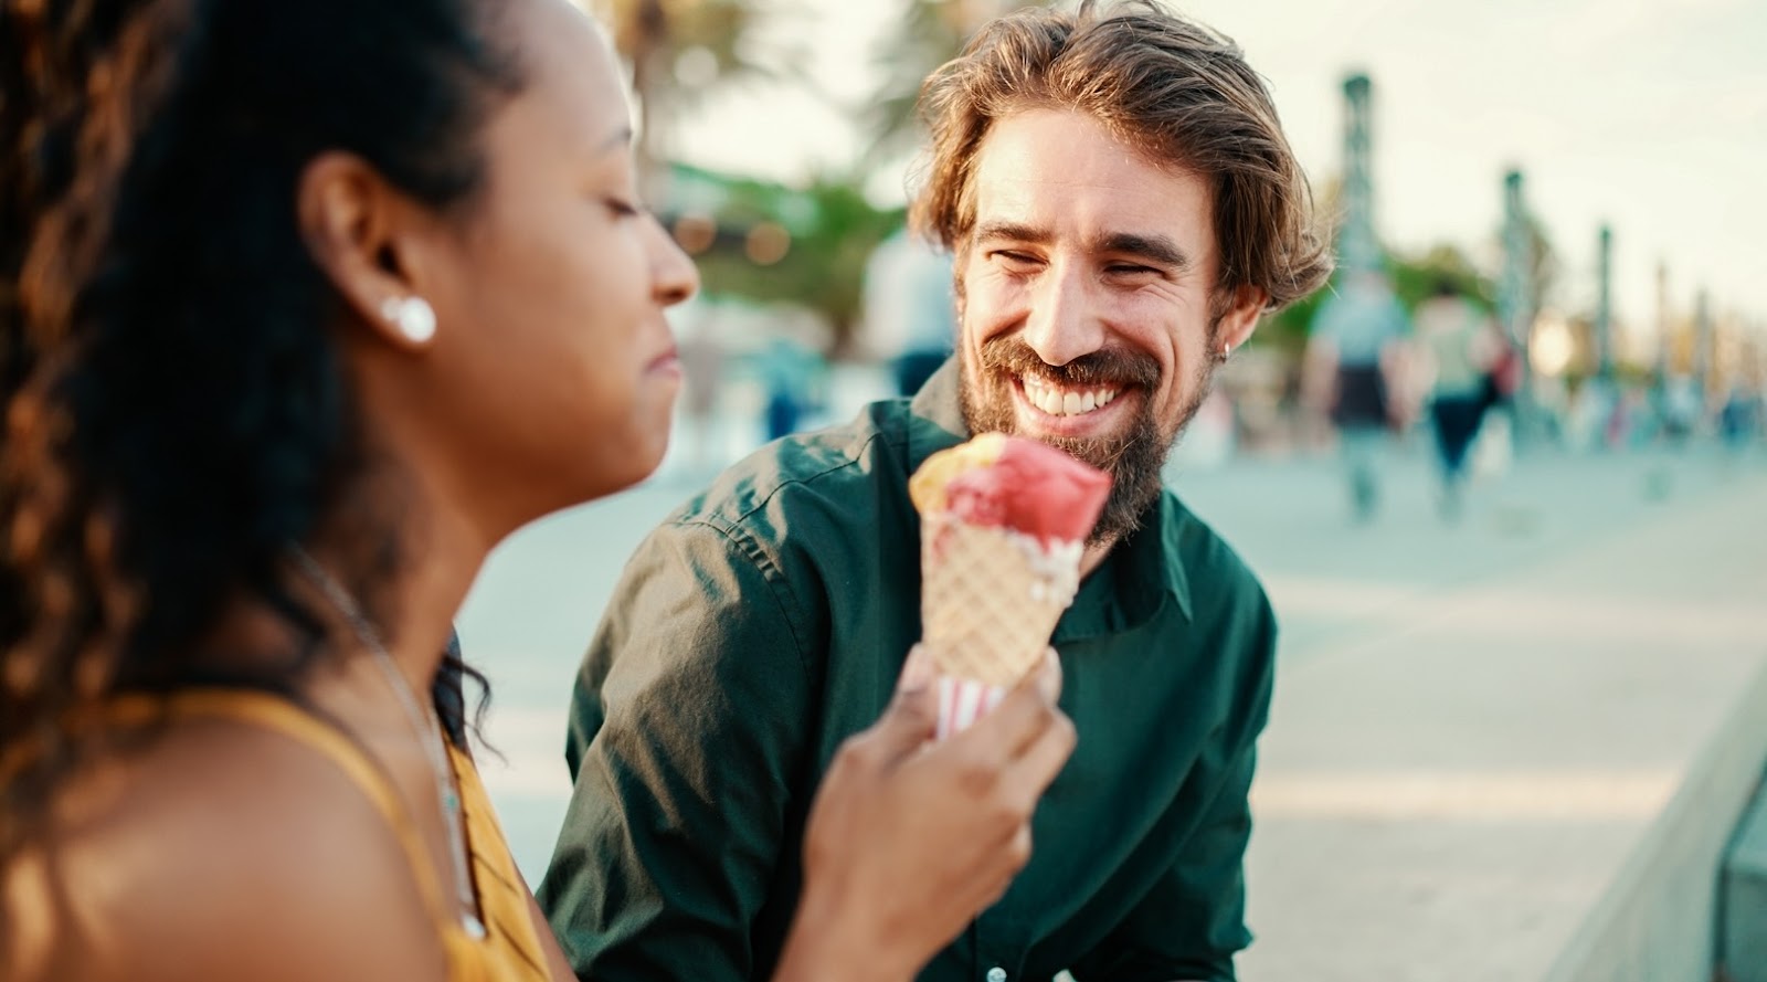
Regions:
<instances>
[{"instance_id":1,"label":"woman in yellow top with dark curly hair, including her raised hand","mask_svg":"<svg viewBox=\"0 0 1767 982\"><path fill-rule=\"evenodd\" d=\"M645 477L696 288L565 0L0 5L0 978L567 978L428 692L486 553ZM781 978L908 978L1073 733L919 680Z\"/></svg>"}]
</instances>

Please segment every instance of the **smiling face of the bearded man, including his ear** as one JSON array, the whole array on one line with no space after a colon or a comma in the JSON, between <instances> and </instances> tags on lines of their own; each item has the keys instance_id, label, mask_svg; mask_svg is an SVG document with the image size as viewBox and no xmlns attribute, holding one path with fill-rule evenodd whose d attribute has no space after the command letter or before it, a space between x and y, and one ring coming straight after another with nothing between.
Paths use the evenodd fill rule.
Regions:
<instances>
[{"instance_id":1,"label":"smiling face of the bearded man, including his ear","mask_svg":"<svg viewBox=\"0 0 1767 982\"><path fill-rule=\"evenodd\" d=\"M1111 472L1094 542L1136 528L1159 470L1209 392L1221 346L1256 327L1263 295L1214 290L1210 187L1161 168L1090 115L998 120L972 178L959 256L963 415Z\"/></svg>"}]
</instances>

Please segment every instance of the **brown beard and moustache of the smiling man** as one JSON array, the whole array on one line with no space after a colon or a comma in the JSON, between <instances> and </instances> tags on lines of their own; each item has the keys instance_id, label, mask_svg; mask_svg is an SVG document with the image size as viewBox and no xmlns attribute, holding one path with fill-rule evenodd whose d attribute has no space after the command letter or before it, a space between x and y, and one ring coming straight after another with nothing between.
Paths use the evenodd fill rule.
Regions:
<instances>
[{"instance_id":1,"label":"brown beard and moustache of the smiling man","mask_svg":"<svg viewBox=\"0 0 1767 982\"><path fill-rule=\"evenodd\" d=\"M1212 351L1214 330L1209 334L1207 350ZM979 364L972 364L972 360ZM1205 357L1194 369L1194 387L1179 419L1170 427L1161 427L1152 404L1154 390L1159 387L1159 362L1150 355L1104 350L1074 359L1066 366L1051 366L1018 337L995 337L982 343L981 353L974 359L959 344L958 367L963 389L963 422L968 424L972 434L1018 431L1012 385L1025 374L1041 376L1062 389L1117 389L1119 399L1131 392L1141 396L1141 404L1136 406L1129 426L1119 433L1097 438L1037 436L1111 475L1104 512L1087 539L1094 546L1120 540L1141 526L1141 517L1159 500L1164 486L1161 472L1166 466L1166 456L1177 443L1179 433L1196 415L1196 408L1209 397L1214 381L1214 360Z\"/></svg>"}]
</instances>

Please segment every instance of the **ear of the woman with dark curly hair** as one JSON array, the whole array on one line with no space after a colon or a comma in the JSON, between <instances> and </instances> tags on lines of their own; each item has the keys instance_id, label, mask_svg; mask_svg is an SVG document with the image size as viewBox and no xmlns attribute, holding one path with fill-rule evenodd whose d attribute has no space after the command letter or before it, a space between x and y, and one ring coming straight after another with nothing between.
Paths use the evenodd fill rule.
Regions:
<instances>
[{"instance_id":1,"label":"ear of the woman with dark curly hair","mask_svg":"<svg viewBox=\"0 0 1767 982\"><path fill-rule=\"evenodd\" d=\"M421 300L410 203L368 161L337 150L315 157L302 171L295 215L313 261L355 320L389 344L424 348L428 337L403 329L399 318L412 298Z\"/></svg>"}]
</instances>

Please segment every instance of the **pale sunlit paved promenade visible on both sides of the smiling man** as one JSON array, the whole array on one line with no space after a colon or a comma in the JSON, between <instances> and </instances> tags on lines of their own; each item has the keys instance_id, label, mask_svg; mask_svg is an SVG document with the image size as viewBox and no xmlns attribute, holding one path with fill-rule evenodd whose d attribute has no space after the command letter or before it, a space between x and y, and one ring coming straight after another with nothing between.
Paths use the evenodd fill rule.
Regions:
<instances>
[{"instance_id":1,"label":"pale sunlit paved promenade visible on both sides of the smiling man","mask_svg":"<svg viewBox=\"0 0 1767 982\"><path fill-rule=\"evenodd\" d=\"M1389 461L1368 526L1329 457L1168 477L1283 622L1244 978L1576 977L1566 952L1599 940L1767 666L1767 461L1521 459L1454 526L1421 447ZM693 489L664 472L523 532L463 611L505 758L486 782L530 878L567 795L576 659L624 558Z\"/></svg>"}]
</instances>

